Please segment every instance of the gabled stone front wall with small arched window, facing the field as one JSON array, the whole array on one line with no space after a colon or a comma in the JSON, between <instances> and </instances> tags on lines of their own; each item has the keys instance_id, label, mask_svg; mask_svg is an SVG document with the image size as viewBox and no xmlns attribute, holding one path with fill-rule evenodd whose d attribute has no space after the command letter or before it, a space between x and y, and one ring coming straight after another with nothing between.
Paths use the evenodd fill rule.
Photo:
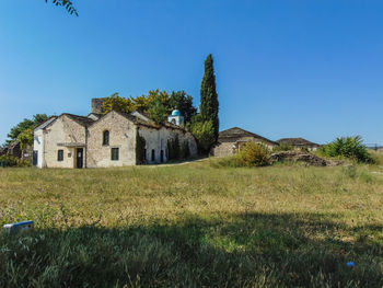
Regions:
<instances>
[{"instance_id":1,"label":"gabled stone front wall with small arched window, facing the field","mask_svg":"<svg viewBox=\"0 0 383 288\"><path fill-rule=\"evenodd\" d=\"M109 145L103 134L109 131ZM118 160L112 160L112 148L118 148ZM106 168L136 164L136 126L116 112L111 112L89 127L88 166Z\"/></svg>"}]
</instances>

